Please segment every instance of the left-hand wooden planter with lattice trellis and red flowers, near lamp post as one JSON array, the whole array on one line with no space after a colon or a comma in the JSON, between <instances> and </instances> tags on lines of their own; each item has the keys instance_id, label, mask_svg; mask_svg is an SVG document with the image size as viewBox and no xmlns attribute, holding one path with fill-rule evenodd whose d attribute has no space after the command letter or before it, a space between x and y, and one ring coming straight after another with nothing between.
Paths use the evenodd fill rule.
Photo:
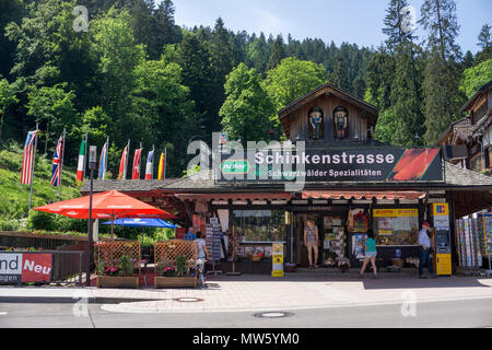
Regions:
<instances>
[{"instance_id":1,"label":"left-hand wooden planter with lattice trellis and red flowers, near lamp post","mask_svg":"<svg viewBox=\"0 0 492 350\"><path fill-rule=\"evenodd\" d=\"M139 289L141 256L139 242L103 242L97 243L95 247L97 288Z\"/></svg>"}]
</instances>

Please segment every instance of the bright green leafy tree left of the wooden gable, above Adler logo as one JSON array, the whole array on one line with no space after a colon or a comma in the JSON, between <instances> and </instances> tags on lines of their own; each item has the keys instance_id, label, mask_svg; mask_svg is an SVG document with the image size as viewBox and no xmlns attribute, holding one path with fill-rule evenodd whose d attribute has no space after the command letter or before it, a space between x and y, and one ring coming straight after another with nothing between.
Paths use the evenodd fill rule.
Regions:
<instances>
[{"instance_id":1,"label":"bright green leafy tree left of the wooden gable, above Adler logo","mask_svg":"<svg viewBox=\"0 0 492 350\"><path fill-rule=\"evenodd\" d=\"M271 128L269 116L274 114L274 107L262 86L261 75L241 63L227 75L225 94L220 115L227 137L244 142L267 141Z\"/></svg>"}]
</instances>

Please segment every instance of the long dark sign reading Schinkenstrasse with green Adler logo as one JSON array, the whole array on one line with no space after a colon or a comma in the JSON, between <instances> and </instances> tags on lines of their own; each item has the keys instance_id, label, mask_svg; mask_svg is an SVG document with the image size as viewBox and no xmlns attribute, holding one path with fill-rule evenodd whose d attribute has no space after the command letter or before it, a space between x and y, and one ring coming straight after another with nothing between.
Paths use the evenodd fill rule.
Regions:
<instances>
[{"instance_id":1,"label":"long dark sign reading Schinkenstrasse with green Adler logo","mask_svg":"<svg viewBox=\"0 0 492 350\"><path fill-rule=\"evenodd\" d=\"M440 149L221 153L218 182L442 182Z\"/></svg>"}]
</instances>

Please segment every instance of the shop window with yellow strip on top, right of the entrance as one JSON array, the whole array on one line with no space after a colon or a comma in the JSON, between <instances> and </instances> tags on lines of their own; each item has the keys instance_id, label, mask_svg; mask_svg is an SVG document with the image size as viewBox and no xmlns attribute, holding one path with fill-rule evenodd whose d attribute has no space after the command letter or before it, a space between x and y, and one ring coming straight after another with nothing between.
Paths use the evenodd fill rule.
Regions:
<instances>
[{"instance_id":1,"label":"shop window with yellow strip on top, right of the entrance","mask_svg":"<svg viewBox=\"0 0 492 350\"><path fill-rule=\"evenodd\" d=\"M376 245L418 245L418 209L375 209L373 223Z\"/></svg>"}]
</instances>

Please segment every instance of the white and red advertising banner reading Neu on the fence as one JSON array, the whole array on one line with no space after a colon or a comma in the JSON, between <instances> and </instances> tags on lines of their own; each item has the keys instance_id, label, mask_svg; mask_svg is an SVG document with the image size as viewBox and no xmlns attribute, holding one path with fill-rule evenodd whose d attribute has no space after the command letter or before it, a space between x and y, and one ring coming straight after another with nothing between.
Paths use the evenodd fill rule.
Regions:
<instances>
[{"instance_id":1,"label":"white and red advertising banner reading Neu on the fence","mask_svg":"<svg viewBox=\"0 0 492 350\"><path fill-rule=\"evenodd\" d=\"M0 283L49 282L51 254L0 254Z\"/></svg>"}]
</instances>

